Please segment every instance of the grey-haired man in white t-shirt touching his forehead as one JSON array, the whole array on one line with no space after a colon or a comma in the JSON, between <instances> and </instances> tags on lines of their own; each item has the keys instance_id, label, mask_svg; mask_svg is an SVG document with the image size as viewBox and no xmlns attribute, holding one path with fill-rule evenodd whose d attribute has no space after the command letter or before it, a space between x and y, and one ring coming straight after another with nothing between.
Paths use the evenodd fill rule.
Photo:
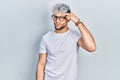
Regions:
<instances>
[{"instance_id":1,"label":"grey-haired man in white t-shirt touching his forehead","mask_svg":"<svg viewBox=\"0 0 120 80\"><path fill-rule=\"evenodd\" d=\"M40 42L36 80L77 80L78 47L95 51L93 36L64 3L53 7L52 19L55 30L46 33ZM68 27L69 21L79 32Z\"/></svg>"}]
</instances>

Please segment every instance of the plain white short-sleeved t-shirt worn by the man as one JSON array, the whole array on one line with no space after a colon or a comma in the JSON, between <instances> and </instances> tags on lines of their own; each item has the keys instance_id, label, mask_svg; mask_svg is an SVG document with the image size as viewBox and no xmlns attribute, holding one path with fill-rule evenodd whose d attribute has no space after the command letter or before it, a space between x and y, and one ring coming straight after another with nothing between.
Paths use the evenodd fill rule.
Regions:
<instances>
[{"instance_id":1,"label":"plain white short-sleeved t-shirt worn by the man","mask_svg":"<svg viewBox=\"0 0 120 80\"><path fill-rule=\"evenodd\" d=\"M47 53L44 80L77 80L77 53L80 33L69 29L58 34L46 33L40 42L39 53Z\"/></svg>"}]
</instances>

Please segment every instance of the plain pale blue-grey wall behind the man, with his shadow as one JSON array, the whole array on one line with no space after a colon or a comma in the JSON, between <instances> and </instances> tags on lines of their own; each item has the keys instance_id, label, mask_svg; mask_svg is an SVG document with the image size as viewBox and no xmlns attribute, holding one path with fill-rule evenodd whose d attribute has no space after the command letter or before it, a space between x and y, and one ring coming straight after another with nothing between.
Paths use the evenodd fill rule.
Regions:
<instances>
[{"instance_id":1,"label":"plain pale blue-grey wall behind the man, with his shadow","mask_svg":"<svg viewBox=\"0 0 120 80\"><path fill-rule=\"evenodd\" d=\"M120 80L119 0L0 0L0 80L35 80L39 42L54 29L51 9L59 2L70 5L97 44L92 53L80 48L78 80Z\"/></svg>"}]
</instances>

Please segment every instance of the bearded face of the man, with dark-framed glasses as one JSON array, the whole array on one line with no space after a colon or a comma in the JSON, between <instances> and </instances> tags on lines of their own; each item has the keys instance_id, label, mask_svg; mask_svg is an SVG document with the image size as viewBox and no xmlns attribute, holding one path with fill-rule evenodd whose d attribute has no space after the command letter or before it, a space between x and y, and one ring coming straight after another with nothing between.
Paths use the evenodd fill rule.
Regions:
<instances>
[{"instance_id":1,"label":"bearded face of the man, with dark-framed glasses","mask_svg":"<svg viewBox=\"0 0 120 80\"><path fill-rule=\"evenodd\" d=\"M68 20L66 19L66 17L67 15L61 12L52 15L56 30L62 30L67 26Z\"/></svg>"}]
</instances>

